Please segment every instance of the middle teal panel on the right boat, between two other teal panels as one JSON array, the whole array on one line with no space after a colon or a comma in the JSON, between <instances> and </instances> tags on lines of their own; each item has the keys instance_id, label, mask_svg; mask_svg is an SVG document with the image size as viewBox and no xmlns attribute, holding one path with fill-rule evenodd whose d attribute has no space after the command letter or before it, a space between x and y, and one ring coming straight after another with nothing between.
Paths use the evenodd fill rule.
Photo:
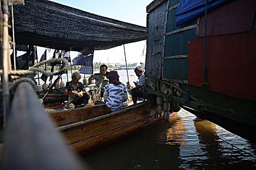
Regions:
<instances>
[{"instance_id":1,"label":"middle teal panel on the right boat, between two other teal panels","mask_svg":"<svg viewBox=\"0 0 256 170\"><path fill-rule=\"evenodd\" d=\"M197 29L171 34L165 37L164 56L188 54L188 42L196 39Z\"/></svg>"}]
</instances>

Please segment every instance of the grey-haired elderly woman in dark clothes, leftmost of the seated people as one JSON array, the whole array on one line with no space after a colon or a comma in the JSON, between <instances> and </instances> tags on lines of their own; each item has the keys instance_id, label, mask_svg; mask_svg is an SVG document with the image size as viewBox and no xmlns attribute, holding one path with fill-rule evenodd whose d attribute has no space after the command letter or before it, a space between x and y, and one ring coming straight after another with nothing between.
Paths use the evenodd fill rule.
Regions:
<instances>
[{"instance_id":1,"label":"grey-haired elderly woman in dark clothes, leftmost of the seated people","mask_svg":"<svg viewBox=\"0 0 256 170\"><path fill-rule=\"evenodd\" d=\"M68 94L68 102L65 103L65 107L69 109L74 109L76 105L79 104L88 104L88 100L90 99L89 94L86 93L83 84L79 82L81 75L78 71L72 73L72 81L67 82L64 94Z\"/></svg>"}]
</instances>

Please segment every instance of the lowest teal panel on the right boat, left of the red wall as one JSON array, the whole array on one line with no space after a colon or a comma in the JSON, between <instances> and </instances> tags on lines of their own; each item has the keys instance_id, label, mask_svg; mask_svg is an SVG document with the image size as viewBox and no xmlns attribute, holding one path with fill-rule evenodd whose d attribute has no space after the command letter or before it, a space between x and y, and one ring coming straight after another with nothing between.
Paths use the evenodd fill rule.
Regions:
<instances>
[{"instance_id":1,"label":"lowest teal panel on the right boat, left of the red wall","mask_svg":"<svg viewBox=\"0 0 256 170\"><path fill-rule=\"evenodd\" d=\"M174 80L188 80L188 58L165 59L163 77Z\"/></svg>"}]
</instances>

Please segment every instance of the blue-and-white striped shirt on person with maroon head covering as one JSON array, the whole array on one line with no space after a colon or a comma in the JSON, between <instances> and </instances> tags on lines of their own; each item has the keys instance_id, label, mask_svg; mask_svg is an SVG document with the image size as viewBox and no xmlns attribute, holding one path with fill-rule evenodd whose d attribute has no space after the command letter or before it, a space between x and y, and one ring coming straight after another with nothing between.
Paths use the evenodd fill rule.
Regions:
<instances>
[{"instance_id":1,"label":"blue-and-white striped shirt on person with maroon head covering","mask_svg":"<svg viewBox=\"0 0 256 170\"><path fill-rule=\"evenodd\" d=\"M127 93L126 86L121 83L120 85L108 84L105 86L104 95L107 95L106 105L112 111L122 108L124 93Z\"/></svg>"}]
</instances>

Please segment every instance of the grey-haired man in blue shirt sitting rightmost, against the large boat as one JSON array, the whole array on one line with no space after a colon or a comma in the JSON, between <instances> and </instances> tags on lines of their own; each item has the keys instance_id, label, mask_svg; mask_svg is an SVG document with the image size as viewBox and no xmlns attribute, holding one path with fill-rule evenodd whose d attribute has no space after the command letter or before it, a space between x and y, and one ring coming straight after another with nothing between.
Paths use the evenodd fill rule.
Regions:
<instances>
[{"instance_id":1,"label":"grey-haired man in blue shirt sitting rightmost, against the large boat","mask_svg":"<svg viewBox=\"0 0 256 170\"><path fill-rule=\"evenodd\" d=\"M135 74L139 78L138 83L135 84L136 86L132 89L132 99L133 103L137 103L137 98L145 99L145 94L143 93L143 86L145 85L145 75L143 73L143 68L137 66L134 69Z\"/></svg>"}]
</instances>

